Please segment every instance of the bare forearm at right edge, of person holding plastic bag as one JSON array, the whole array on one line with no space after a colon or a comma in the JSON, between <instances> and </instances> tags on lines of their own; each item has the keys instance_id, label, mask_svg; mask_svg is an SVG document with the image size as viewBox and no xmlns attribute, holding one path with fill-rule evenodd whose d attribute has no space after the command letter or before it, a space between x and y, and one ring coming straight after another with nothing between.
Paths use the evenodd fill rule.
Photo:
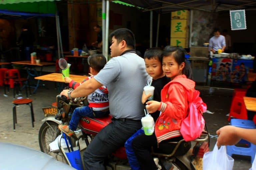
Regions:
<instances>
[{"instance_id":1,"label":"bare forearm at right edge, of person holding plastic bag","mask_svg":"<svg viewBox=\"0 0 256 170\"><path fill-rule=\"evenodd\" d=\"M237 128L236 135L256 145L256 129Z\"/></svg>"}]
</instances>

